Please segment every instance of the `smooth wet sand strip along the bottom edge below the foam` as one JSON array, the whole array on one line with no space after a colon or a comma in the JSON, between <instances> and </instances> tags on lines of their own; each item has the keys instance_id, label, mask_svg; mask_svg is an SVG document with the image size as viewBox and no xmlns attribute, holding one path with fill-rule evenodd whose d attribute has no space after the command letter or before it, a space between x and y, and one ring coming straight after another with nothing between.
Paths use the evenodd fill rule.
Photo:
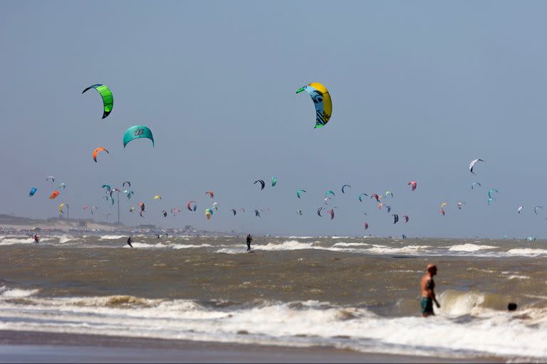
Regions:
<instances>
[{"instance_id":1,"label":"smooth wet sand strip along the bottom edge below the foam","mask_svg":"<svg viewBox=\"0 0 547 364\"><path fill-rule=\"evenodd\" d=\"M0 363L503 363L501 358L434 358L31 331L0 331Z\"/></svg>"}]
</instances>

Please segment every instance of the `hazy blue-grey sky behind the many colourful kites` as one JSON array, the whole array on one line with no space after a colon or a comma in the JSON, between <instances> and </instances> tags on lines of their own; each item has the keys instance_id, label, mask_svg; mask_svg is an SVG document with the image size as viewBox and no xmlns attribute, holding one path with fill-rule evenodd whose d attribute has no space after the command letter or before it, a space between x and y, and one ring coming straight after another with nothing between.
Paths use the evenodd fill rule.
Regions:
<instances>
[{"instance_id":1,"label":"hazy blue-grey sky behind the many colourful kites","mask_svg":"<svg viewBox=\"0 0 547 364\"><path fill-rule=\"evenodd\" d=\"M46 218L65 202L71 217L90 216L87 204L104 220L113 209L100 186L129 180L130 225L545 236L547 208L532 208L547 205L546 14L545 1L2 1L0 212ZM295 95L308 82L333 97L323 129L310 97ZM94 83L113 91L106 119L97 92L81 95ZM135 124L152 129L155 148L140 139L123 149ZM95 163L98 146L110 155ZM486 163L472 176L475 158ZM68 184L56 200L50 175ZM271 176L276 187L253 185ZM474 181L483 187L472 191ZM500 191L490 206L488 188ZM328 189L332 221L316 215ZM357 199L387 189L408 224ZM160 216L191 198L196 213ZM145 219L127 213L139 200ZM254 208L271 210L259 219Z\"/></svg>"}]
</instances>

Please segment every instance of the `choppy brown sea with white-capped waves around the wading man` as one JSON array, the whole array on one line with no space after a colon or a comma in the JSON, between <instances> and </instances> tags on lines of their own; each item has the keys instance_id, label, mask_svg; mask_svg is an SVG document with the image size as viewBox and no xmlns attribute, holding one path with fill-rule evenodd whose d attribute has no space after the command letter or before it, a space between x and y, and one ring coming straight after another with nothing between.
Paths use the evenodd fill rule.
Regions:
<instances>
[{"instance_id":1,"label":"choppy brown sea with white-capped waves around the wading man","mask_svg":"<svg viewBox=\"0 0 547 364\"><path fill-rule=\"evenodd\" d=\"M547 360L543 240L133 238L1 236L0 329Z\"/></svg>"}]
</instances>

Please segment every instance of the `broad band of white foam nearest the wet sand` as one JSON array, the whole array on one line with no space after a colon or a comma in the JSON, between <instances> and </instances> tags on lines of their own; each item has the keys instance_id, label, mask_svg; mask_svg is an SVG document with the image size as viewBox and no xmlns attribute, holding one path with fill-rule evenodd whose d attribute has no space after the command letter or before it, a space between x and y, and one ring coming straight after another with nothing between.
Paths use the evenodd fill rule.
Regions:
<instances>
[{"instance_id":1,"label":"broad band of white foam nearest the wet sand","mask_svg":"<svg viewBox=\"0 0 547 364\"><path fill-rule=\"evenodd\" d=\"M480 293L441 295L434 319L385 318L328 302L258 302L217 309L189 300L132 296L43 298L0 296L0 329L254 343L335 346L407 355L504 355L547 359L546 314L522 311L534 326L504 311L484 310ZM444 309L444 307L443 307ZM460 314L480 319L461 321ZM417 332L420 334L417 335Z\"/></svg>"}]
</instances>

